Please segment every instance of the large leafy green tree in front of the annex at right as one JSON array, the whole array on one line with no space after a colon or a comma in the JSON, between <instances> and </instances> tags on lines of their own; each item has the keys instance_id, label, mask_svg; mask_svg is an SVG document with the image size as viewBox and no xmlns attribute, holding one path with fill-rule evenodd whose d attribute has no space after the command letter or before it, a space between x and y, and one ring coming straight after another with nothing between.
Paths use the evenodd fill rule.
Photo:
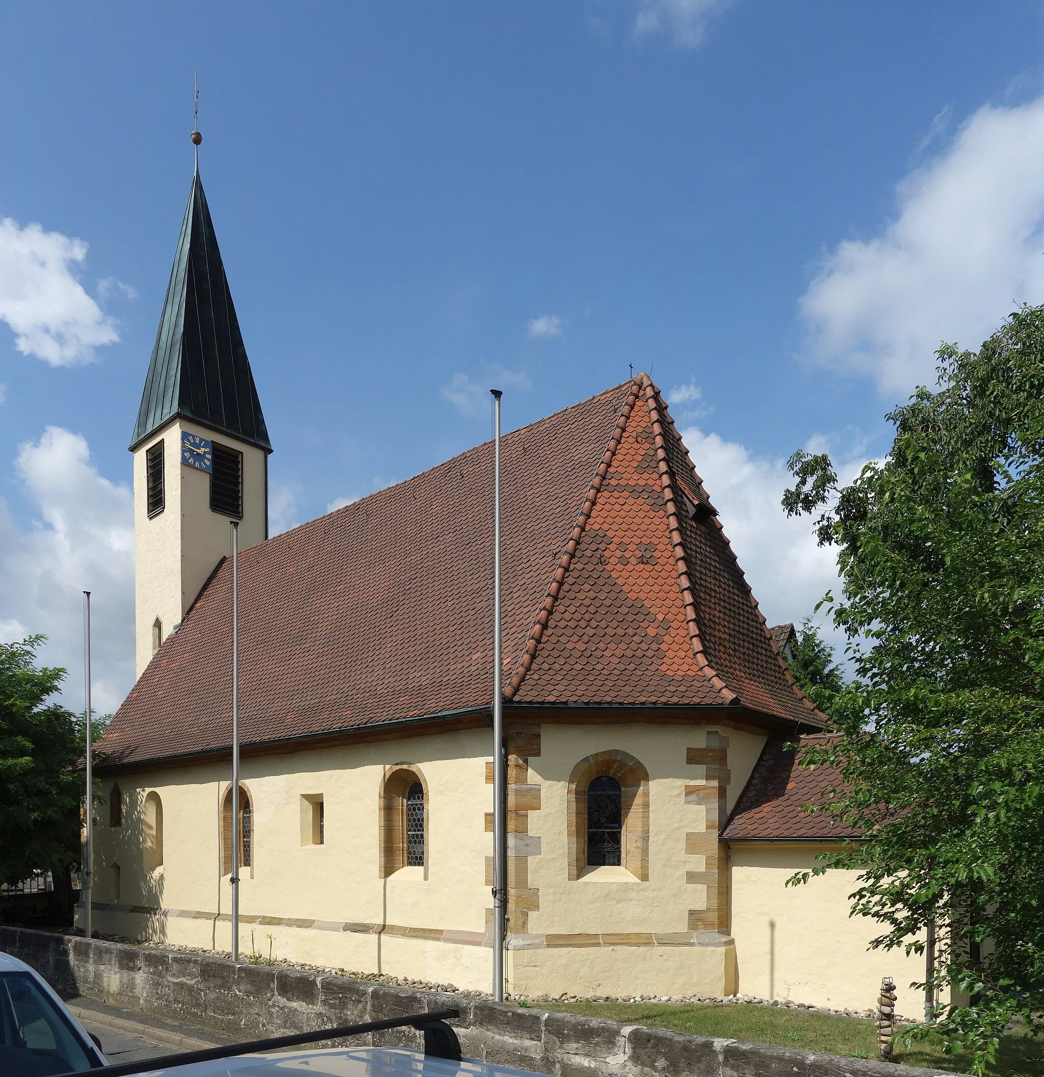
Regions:
<instances>
[{"instance_id":1,"label":"large leafy green tree in front of the annex at right","mask_svg":"<svg viewBox=\"0 0 1044 1077\"><path fill-rule=\"evenodd\" d=\"M937 925L933 987L972 1005L936 1029L985 1073L1004 1025L1044 1010L1044 308L939 361L885 460L838 488L798 452L784 506L837 548L855 670L803 765L840 768L824 810L865 838L816 871L859 870L875 946L922 952Z\"/></svg>"}]
</instances>

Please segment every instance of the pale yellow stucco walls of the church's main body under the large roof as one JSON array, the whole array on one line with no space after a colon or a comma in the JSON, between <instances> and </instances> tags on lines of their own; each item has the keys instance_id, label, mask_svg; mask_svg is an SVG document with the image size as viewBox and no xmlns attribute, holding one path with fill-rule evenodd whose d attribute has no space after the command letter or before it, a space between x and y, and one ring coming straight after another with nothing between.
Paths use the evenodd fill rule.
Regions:
<instances>
[{"instance_id":1,"label":"pale yellow stucco walls of the church's main body under the large roof","mask_svg":"<svg viewBox=\"0 0 1044 1077\"><path fill-rule=\"evenodd\" d=\"M617 947L590 940L508 954L508 990L607 994L723 993L735 983L731 939L693 945L687 913L699 908L703 887L688 885L699 868L686 854L686 833L703 826L703 809L686 803L686 785L704 780L686 763L688 747L706 744L706 728L692 726L544 725L541 755L531 759L530 782L540 786L540 809L530 812L539 855L530 857L531 885L540 911L530 933L611 935L674 933L667 945ZM719 728L714 727L711 728ZM762 737L721 730L730 738L730 801L746 781ZM569 773L595 752L619 749L638 758L650 775L649 880L623 868L599 868L570 882L566 870L565 797ZM488 989L492 953L483 946L492 904L485 859L492 836L485 813L492 786L485 729L418 736L281 756L246 757L242 782L253 805L253 864L240 871L240 949L276 957L361 971L381 971L458 987ZM428 788L427 878L422 868L379 876L379 792L396 764L420 768ZM227 765L122 775L124 823L108 825L105 799L96 809L96 909L99 931L149 936L221 950L230 948L229 885L221 878L221 811ZM113 779L102 782L104 797ZM163 802L164 863L143 862L143 810L150 793ZM302 826L302 797L323 797L325 843L312 844ZM109 891L113 864L121 893ZM131 911L131 910L135 911ZM147 910L164 909L163 915ZM294 920L295 924L259 922ZM345 924L353 925L345 929ZM369 925L390 925L373 933ZM403 937L405 931L414 937ZM448 933L443 935L443 933ZM433 937L424 937L433 936ZM542 942L540 943L542 947Z\"/></svg>"}]
</instances>

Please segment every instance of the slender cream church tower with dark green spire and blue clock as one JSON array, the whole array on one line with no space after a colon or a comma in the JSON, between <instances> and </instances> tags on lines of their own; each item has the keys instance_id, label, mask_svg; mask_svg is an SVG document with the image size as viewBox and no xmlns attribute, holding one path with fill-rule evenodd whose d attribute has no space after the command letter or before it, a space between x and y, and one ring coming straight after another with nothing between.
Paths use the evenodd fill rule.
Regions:
<instances>
[{"instance_id":1,"label":"slender cream church tower with dark green spire and blue clock","mask_svg":"<svg viewBox=\"0 0 1044 1077\"><path fill-rule=\"evenodd\" d=\"M268 537L272 447L198 167L130 451L141 676L229 553L229 521L240 549Z\"/></svg>"}]
</instances>

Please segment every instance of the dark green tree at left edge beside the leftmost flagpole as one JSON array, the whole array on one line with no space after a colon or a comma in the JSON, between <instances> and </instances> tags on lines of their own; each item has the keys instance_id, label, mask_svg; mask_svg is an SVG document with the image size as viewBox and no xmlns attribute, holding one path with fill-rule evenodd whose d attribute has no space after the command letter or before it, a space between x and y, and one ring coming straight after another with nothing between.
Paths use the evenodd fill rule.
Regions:
<instances>
[{"instance_id":1,"label":"dark green tree at left edge beside the leftmost flagpole","mask_svg":"<svg viewBox=\"0 0 1044 1077\"><path fill-rule=\"evenodd\" d=\"M36 665L42 641L0 644L0 882L50 869L66 891L81 856L84 721L50 701L66 671Z\"/></svg>"}]
</instances>

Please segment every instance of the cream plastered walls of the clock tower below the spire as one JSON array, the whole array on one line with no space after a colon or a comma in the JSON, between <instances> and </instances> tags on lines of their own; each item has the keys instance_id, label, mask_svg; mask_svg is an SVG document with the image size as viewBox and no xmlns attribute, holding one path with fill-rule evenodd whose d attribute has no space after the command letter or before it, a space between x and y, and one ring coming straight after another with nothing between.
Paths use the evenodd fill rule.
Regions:
<instances>
[{"instance_id":1,"label":"cream plastered walls of the clock tower below the spire","mask_svg":"<svg viewBox=\"0 0 1044 1077\"><path fill-rule=\"evenodd\" d=\"M229 518L210 508L210 475L181 463L182 431L243 453L240 549L262 542L267 530L266 459L260 449L186 419L174 419L135 451L135 653L139 676L153 656L156 617L166 639L230 549ZM164 443L165 506L149 519L145 453L159 440Z\"/></svg>"}]
</instances>

